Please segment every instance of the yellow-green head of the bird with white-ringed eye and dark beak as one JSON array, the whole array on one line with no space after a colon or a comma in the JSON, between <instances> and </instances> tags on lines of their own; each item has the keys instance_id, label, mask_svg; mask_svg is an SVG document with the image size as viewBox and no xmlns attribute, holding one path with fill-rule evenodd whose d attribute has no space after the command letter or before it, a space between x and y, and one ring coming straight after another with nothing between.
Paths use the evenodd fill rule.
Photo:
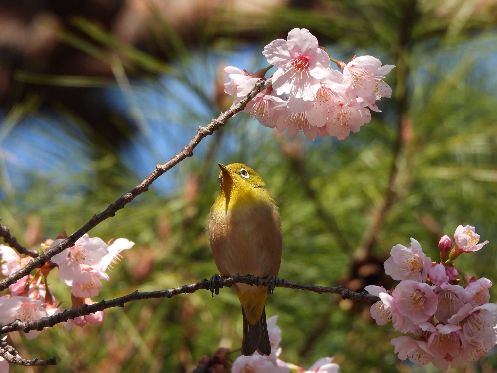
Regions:
<instances>
[{"instance_id":1,"label":"yellow-green head of the bird with white-ringed eye and dark beak","mask_svg":"<svg viewBox=\"0 0 497 373\"><path fill-rule=\"evenodd\" d=\"M228 189L247 190L250 187L264 187L265 183L259 175L243 163L231 163L228 166L219 164L219 185L225 192Z\"/></svg>"}]
</instances>

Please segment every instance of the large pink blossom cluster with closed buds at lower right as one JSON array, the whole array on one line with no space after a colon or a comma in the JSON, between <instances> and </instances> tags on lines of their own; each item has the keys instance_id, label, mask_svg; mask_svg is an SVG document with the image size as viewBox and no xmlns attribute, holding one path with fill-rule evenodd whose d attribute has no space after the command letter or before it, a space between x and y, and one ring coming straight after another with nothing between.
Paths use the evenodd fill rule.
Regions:
<instances>
[{"instance_id":1,"label":"large pink blossom cluster with closed buds at lower right","mask_svg":"<svg viewBox=\"0 0 497 373\"><path fill-rule=\"evenodd\" d=\"M409 359L416 366L431 362L446 370L449 364L456 368L483 358L497 344L497 304L489 303L492 282L464 275L452 263L462 253L478 251L488 243L479 240L475 227L458 226L452 240L440 239L441 262L437 263L411 238L410 248L394 246L385 262L385 273L400 283L391 291L366 286L381 299L370 309L376 323L392 322L397 331L407 334L392 339L399 359Z\"/></svg>"}]
</instances>

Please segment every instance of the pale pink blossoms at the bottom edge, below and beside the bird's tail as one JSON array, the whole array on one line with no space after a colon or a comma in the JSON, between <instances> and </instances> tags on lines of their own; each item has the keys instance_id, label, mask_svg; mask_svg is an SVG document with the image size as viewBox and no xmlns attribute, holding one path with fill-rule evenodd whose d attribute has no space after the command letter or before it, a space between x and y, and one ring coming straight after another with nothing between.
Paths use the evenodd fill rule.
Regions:
<instances>
[{"instance_id":1,"label":"pale pink blossoms at the bottom edge, below and beside the bird's tail","mask_svg":"<svg viewBox=\"0 0 497 373\"><path fill-rule=\"evenodd\" d=\"M267 332L271 343L271 354L260 355L254 352L250 356L239 356L231 368L231 373L339 373L340 368L332 363L332 358L322 358L314 363L308 370L291 363L280 360L281 329L276 325L278 315L267 319Z\"/></svg>"}]
</instances>

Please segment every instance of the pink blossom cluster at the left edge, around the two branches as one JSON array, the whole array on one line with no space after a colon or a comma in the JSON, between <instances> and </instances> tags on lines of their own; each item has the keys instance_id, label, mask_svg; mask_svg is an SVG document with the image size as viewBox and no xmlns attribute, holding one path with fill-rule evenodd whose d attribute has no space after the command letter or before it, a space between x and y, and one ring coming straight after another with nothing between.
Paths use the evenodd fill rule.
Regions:
<instances>
[{"instance_id":1,"label":"pink blossom cluster at the left edge, around the two branches","mask_svg":"<svg viewBox=\"0 0 497 373\"><path fill-rule=\"evenodd\" d=\"M62 242L64 238L47 240L42 249L51 248ZM112 240L111 240L112 241ZM59 278L71 286L72 308L83 304L96 303L91 300L97 296L102 286L101 280L109 280L105 271L121 258L120 252L131 249L134 242L119 238L113 243L105 243L100 238L89 238L87 234L77 240L73 247L67 248L52 257L52 263L46 263L33 275L27 275L11 284L10 294L0 296L0 323L6 324L16 319L21 321L38 320L65 311L63 302L57 302L50 292L47 277L56 266ZM21 258L13 249L0 245L1 274L8 276L20 270L30 258ZM86 323L102 325L104 311L86 316L79 316L63 323L67 329L74 325L83 327ZM40 334L38 330L24 333L27 339ZM0 362L1 363L1 362ZM0 370L0 372L3 372ZM8 368L7 371L8 372Z\"/></svg>"}]
</instances>

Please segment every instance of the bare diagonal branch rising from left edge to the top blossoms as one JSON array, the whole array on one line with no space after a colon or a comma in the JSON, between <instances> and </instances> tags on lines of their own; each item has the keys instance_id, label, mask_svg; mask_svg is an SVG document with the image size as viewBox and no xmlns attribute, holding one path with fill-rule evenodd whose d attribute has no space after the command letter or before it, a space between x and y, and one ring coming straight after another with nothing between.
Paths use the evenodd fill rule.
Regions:
<instances>
[{"instance_id":1,"label":"bare diagonal branch rising from left edge to the top blossoms","mask_svg":"<svg viewBox=\"0 0 497 373\"><path fill-rule=\"evenodd\" d=\"M38 257L30 260L26 266L21 268L19 271L7 276L5 279L0 281L0 291L8 287L8 285L16 282L17 280L23 278L34 270L35 268L41 268L46 261L52 258L54 255L61 253L68 247L74 246L74 243L87 233L91 228L100 224L105 219L115 216L116 211L124 208L124 206L131 202L137 195L148 190L150 185L157 180L161 175L166 173L179 162L185 158L191 157L193 155L193 149L198 145L198 143L208 135L211 135L213 131L219 129L219 127L224 126L226 121L233 115L242 111L245 106L247 106L248 101L250 101L257 93L262 91L264 88L271 84L271 79L267 81L259 80L252 91L248 93L244 98L240 100L236 105L226 110L224 113L219 114L216 119L212 119L211 122L205 127L199 126L196 135L191 139L191 141L181 150L178 154L172 157L164 164L157 165L156 169L140 184L131 189L126 194L120 196L115 202L111 203L105 210L100 212L98 215L93 215L93 217L83 225L77 232L73 233L70 237L66 238L60 244L54 246L53 248L44 251L38 255Z\"/></svg>"}]
</instances>

